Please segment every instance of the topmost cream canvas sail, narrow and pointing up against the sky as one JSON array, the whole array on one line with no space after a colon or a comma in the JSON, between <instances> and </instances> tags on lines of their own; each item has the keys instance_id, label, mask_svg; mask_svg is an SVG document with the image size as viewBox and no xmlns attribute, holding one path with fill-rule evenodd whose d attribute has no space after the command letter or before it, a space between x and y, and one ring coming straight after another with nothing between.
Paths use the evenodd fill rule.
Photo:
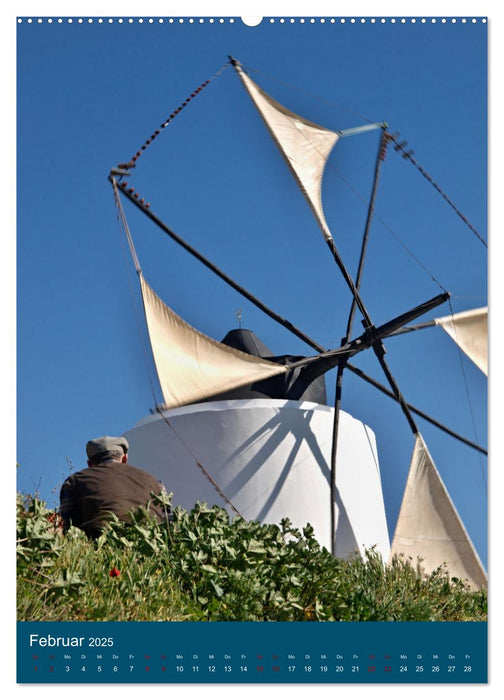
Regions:
<instances>
[{"instance_id":1,"label":"topmost cream canvas sail, narrow and pointing up against the sky","mask_svg":"<svg viewBox=\"0 0 504 700\"><path fill-rule=\"evenodd\" d=\"M239 66L236 69L306 197L324 238L330 240L332 236L322 208L322 177L339 135L286 109L261 90Z\"/></svg>"}]
</instances>

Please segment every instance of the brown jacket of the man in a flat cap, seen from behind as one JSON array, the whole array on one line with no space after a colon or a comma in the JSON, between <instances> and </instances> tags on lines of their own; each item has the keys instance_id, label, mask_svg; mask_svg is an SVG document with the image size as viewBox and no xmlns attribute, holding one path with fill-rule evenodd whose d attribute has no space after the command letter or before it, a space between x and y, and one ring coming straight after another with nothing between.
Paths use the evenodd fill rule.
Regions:
<instances>
[{"instance_id":1,"label":"brown jacket of the man in a flat cap, seen from behind","mask_svg":"<svg viewBox=\"0 0 504 700\"><path fill-rule=\"evenodd\" d=\"M89 537L98 537L114 513L129 522L128 511L145 506L152 493L159 494L162 484L143 469L121 462L97 464L72 474L61 487L60 512L65 531L70 525L84 530ZM159 521L167 514L150 505L150 512Z\"/></svg>"}]
</instances>

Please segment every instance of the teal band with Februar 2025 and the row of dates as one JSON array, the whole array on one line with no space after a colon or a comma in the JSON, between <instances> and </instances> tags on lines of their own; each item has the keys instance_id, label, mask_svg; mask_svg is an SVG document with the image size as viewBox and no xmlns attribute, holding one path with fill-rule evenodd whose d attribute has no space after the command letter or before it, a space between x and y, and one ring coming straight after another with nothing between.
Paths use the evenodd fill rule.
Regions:
<instances>
[{"instance_id":1,"label":"teal band with Februar 2025 and the row of dates","mask_svg":"<svg viewBox=\"0 0 504 700\"><path fill-rule=\"evenodd\" d=\"M486 622L18 622L18 683L486 683Z\"/></svg>"}]
</instances>

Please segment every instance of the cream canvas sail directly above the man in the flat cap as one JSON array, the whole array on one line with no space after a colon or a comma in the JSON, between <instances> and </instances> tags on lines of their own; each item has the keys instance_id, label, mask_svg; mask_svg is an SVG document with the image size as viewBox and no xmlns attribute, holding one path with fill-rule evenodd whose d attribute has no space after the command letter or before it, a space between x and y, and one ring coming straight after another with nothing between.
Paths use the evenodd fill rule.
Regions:
<instances>
[{"instance_id":1,"label":"cream canvas sail directly above the man in the flat cap","mask_svg":"<svg viewBox=\"0 0 504 700\"><path fill-rule=\"evenodd\" d=\"M286 371L284 365L235 350L195 330L159 298L142 274L139 277L167 408L202 401Z\"/></svg>"}]
</instances>

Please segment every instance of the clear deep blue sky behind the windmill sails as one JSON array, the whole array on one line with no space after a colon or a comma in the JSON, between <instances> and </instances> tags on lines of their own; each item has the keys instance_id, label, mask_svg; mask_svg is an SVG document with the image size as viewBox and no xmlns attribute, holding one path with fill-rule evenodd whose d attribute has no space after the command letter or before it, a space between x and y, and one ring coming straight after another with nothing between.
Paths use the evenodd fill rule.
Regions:
<instances>
[{"instance_id":1,"label":"clear deep blue sky behind the windmill sails","mask_svg":"<svg viewBox=\"0 0 504 700\"><path fill-rule=\"evenodd\" d=\"M255 28L188 19L18 25L16 459L18 488L38 490L50 505L69 469L85 466L90 437L130 429L153 405L108 172L228 54L312 121L333 129L386 121L486 239L481 19L277 17ZM352 274L376 148L377 133L340 141L324 180L326 218ZM130 182L230 276L321 344L339 344L349 293L232 69L163 130ZM312 354L127 203L125 211L146 279L192 325L221 339L241 309L243 326L275 353ZM454 312L486 304L486 248L392 148L376 211L362 294L377 325L441 289L452 293ZM429 317L449 313L445 305ZM386 345L406 400L486 445L486 382L448 337L430 329ZM385 383L372 356L355 364ZM333 385L331 373L330 399ZM394 402L350 373L343 409L375 431L392 534L413 445L408 425ZM486 564L486 458L418 422Z\"/></svg>"}]
</instances>

